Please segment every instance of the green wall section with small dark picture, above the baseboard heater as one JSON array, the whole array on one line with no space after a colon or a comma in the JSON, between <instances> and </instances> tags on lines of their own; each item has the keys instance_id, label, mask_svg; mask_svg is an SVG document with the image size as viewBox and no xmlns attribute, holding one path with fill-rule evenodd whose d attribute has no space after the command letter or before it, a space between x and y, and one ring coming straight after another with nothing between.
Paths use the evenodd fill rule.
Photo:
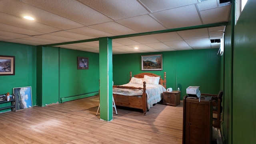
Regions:
<instances>
[{"instance_id":1,"label":"green wall section with small dark picture, above the baseboard heater","mask_svg":"<svg viewBox=\"0 0 256 144\"><path fill-rule=\"evenodd\" d=\"M89 58L88 70L77 69L77 57ZM60 48L60 98L99 90L99 54Z\"/></svg>"}]
</instances>

